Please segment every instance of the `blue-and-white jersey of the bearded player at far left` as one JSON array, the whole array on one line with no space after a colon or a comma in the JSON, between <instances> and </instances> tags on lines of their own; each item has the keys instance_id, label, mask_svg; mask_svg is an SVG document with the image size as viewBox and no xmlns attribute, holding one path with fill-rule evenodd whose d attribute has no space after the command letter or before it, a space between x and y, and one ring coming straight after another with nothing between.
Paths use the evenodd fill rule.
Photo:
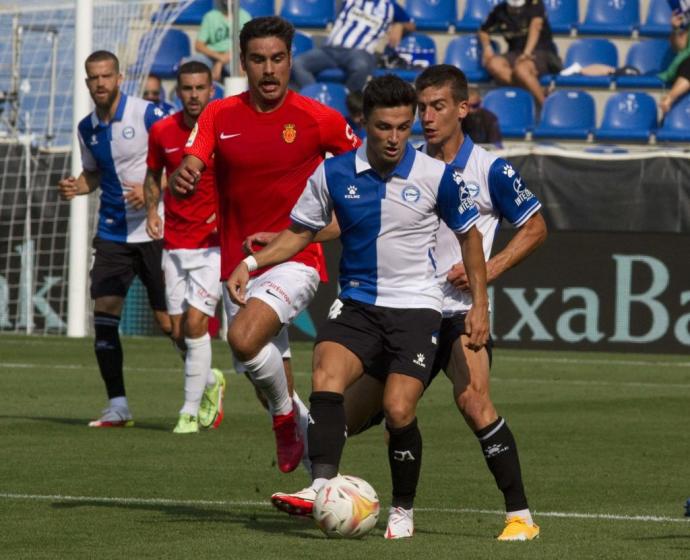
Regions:
<instances>
[{"instance_id":1,"label":"blue-and-white jersey of the bearded player at far left","mask_svg":"<svg viewBox=\"0 0 690 560\"><path fill-rule=\"evenodd\" d=\"M165 117L158 107L122 93L115 116L99 121L94 111L79 123L82 167L101 174L98 237L122 243L151 241L146 233L146 209L125 204L126 183L143 184L149 129ZM159 208L161 213L162 206Z\"/></svg>"}]
</instances>

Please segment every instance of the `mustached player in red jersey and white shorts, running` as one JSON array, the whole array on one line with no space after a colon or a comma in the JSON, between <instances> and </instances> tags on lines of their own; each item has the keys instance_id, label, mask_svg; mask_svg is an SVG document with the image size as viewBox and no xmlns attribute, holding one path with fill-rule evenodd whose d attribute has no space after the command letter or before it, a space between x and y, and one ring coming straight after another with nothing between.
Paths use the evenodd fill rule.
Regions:
<instances>
[{"instance_id":1,"label":"mustached player in red jersey and white shorts, running","mask_svg":"<svg viewBox=\"0 0 690 560\"><path fill-rule=\"evenodd\" d=\"M276 16L255 18L240 33L240 60L249 91L211 103L199 118L182 165L170 186L178 196L195 191L215 156L219 193L221 278L243 260L242 242L257 231L280 231L310 174L327 152L356 148L359 138L336 111L288 90L294 28ZM292 261L256 272L241 309L223 299L232 323L228 343L249 378L268 401L278 466L294 470L304 453L306 408L290 398L283 360L289 351L285 326L311 301L325 278L318 244ZM291 381L291 380L290 380Z\"/></svg>"}]
</instances>

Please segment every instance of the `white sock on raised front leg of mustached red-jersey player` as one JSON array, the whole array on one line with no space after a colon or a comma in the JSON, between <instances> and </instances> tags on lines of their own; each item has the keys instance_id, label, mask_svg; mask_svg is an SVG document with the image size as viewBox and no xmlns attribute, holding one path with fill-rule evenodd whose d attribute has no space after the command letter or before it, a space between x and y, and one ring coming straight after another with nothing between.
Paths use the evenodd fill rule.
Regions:
<instances>
[{"instance_id":1,"label":"white sock on raised front leg of mustached red-jersey player","mask_svg":"<svg viewBox=\"0 0 690 560\"><path fill-rule=\"evenodd\" d=\"M272 416L288 414L292 411L292 399L288 393L287 379L283 369L283 357L275 344L269 342L251 360L242 362L268 401Z\"/></svg>"}]
</instances>

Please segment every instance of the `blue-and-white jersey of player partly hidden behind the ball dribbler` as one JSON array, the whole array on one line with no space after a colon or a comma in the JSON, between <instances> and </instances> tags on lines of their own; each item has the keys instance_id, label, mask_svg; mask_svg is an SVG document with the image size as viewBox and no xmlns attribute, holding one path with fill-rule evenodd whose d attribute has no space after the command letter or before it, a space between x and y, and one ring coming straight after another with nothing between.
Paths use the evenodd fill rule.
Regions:
<instances>
[{"instance_id":1,"label":"blue-and-white jersey of player partly hidden behind the ball dribbler","mask_svg":"<svg viewBox=\"0 0 690 560\"><path fill-rule=\"evenodd\" d=\"M426 153L426 148L424 144L420 150ZM481 146L475 146L467 135L451 165L462 170L462 179L479 209L476 225L484 238L484 258L488 261L503 218L514 227L520 227L541 208L541 203L527 188L517 169ZM443 315L467 311L472 306L471 294L446 282L448 271L462 261L462 254L455 235L443 224L434 255L437 276L443 286Z\"/></svg>"}]
</instances>

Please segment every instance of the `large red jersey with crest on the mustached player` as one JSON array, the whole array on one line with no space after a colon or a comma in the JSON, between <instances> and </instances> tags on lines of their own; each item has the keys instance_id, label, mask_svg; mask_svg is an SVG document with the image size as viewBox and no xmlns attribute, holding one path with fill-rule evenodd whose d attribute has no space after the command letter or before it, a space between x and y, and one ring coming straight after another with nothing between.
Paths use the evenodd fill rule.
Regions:
<instances>
[{"instance_id":1,"label":"large red jersey with crest on the mustached player","mask_svg":"<svg viewBox=\"0 0 690 560\"><path fill-rule=\"evenodd\" d=\"M221 279L245 257L242 242L248 235L290 225L290 211L326 152L337 155L360 144L340 113L292 91L270 113L256 111L248 92L210 103L185 154L207 166L215 154ZM327 278L318 243L291 260Z\"/></svg>"}]
</instances>

